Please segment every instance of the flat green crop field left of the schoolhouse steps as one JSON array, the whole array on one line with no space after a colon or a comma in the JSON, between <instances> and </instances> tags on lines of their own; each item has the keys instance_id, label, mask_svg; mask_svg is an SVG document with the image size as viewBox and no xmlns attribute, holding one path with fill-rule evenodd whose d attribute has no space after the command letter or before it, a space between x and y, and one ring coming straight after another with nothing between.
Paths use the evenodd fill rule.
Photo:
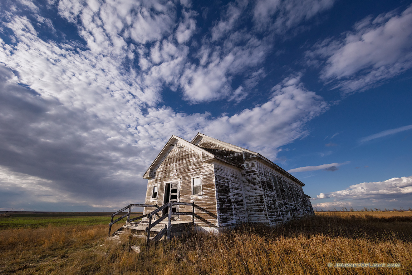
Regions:
<instances>
[{"instance_id":1,"label":"flat green crop field left of the schoolhouse steps","mask_svg":"<svg viewBox=\"0 0 412 275\"><path fill-rule=\"evenodd\" d=\"M52 226L108 224L110 212L6 212L0 214L0 230L12 228L42 228ZM132 213L131 217L141 213ZM119 218L121 215L117 215ZM126 220L126 218L124 218ZM119 221L124 223L124 221Z\"/></svg>"}]
</instances>

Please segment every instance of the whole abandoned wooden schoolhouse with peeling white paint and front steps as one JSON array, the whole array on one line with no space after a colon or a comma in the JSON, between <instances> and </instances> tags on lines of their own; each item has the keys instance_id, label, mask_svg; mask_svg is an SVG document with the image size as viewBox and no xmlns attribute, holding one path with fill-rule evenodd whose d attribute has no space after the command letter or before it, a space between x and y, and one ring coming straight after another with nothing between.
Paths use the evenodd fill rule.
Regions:
<instances>
[{"instance_id":1,"label":"whole abandoned wooden schoolhouse with peeling white paint and front steps","mask_svg":"<svg viewBox=\"0 0 412 275\"><path fill-rule=\"evenodd\" d=\"M314 214L300 180L258 153L200 133L191 142L172 136L143 178L145 204L128 207L130 215L131 206L145 206L140 223L147 226L150 217L149 232L150 223L165 231L161 222L167 216L169 228L190 223L210 231L242 223L273 226ZM137 228L130 221L128 216L128 226Z\"/></svg>"}]
</instances>

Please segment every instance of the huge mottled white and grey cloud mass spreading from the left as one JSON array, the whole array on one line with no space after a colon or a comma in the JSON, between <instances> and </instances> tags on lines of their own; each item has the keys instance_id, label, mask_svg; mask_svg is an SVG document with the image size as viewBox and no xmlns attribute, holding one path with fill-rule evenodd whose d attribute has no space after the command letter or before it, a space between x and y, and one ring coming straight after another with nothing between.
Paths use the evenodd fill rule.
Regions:
<instances>
[{"instance_id":1,"label":"huge mottled white and grey cloud mass spreading from the left","mask_svg":"<svg viewBox=\"0 0 412 275\"><path fill-rule=\"evenodd\" d=\"M328 108L299 75L276 85L262 104L231 115L159 106L165 86L192 103L246 99L265 75L260 65L271 42L234 31L218 45L205 41L203 61L192 62L193 14L177 21L173 2L96 3L59 2L84 41L39 37L39 25L52 27L40 11L35 19L17 7L3 14L12 43L0 39L0 185L19 181L19 201L55 203L55 195L77 205L142 202L141 173L172 134L190 140L204 132L272 158L277 147L306 136L306 122ZM234 89L239 75L245 82ZM33 186L45 190L44 198L30 195Z\"/></svg>"}]
</instances>

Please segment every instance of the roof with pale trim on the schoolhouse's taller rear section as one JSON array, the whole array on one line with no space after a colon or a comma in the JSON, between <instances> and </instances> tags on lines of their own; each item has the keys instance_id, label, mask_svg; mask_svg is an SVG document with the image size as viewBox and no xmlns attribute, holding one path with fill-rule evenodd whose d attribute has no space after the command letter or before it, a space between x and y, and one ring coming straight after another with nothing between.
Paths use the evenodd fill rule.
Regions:
<instances>
[{"instance_id":1,"label":"roof with pale trim on the schoolhouse's taller rear section","mask_svg":"<svg viewBox=\"0 0 412 275\"><path fill-rule=\"evenodd\" d=\"M201 139L201 138L202 138L202 139L206 139L206 140L208 140L208 141L210 141L210 142L212 142L212 143L215 143L215 144L217 144L217 145L220 145L220 146L222 146L222 147L231 149L231 150L233 150L233 151L250 153L250 154L254 155L257 160L260 160L261 162L264 162L266 165L269 165L270 167L274 168L275 170L277 170L277 171L280 172L281 174L287 176L288 178L292 179L292 180L295 181L296 183L299 183L301 186L305 186L304 183L302 183L302 181L296 179L294 176L292 176L291 174L289 174L288 172L286 172L284 169L282 169L281 167L279 167L278 165L276 165L276 164L275 164L274 162L272 162L271 160L269 160L269 159L267 159L266 157L260 155L259 153L253 152L253 151L248 150L248 149L246 149L246 148L242 148L242 147L239 147L239 146L236 146L236 145L227 143L227 142L225 142L225 141L221 141L221 140L218 140L218 139L214 139L214 138L211 137L211 136L206 136L205 134L201 134L201 133L199 133L199 132L197 132L197 135L194 137L194 139L192 139L192 143L197 143L197 141L198 141L199 139Z\"/></svg>"}]
</instances>

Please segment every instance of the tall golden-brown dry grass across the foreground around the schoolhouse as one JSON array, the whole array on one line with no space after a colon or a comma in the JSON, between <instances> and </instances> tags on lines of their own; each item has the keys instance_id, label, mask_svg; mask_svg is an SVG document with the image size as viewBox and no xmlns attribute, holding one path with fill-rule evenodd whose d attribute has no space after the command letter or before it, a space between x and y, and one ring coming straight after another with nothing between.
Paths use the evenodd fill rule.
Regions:
<instances>
[{"instance_id":1,"label":"tall golden-brown dry grass across the foreground around the schoolhouse","mask_svg":"<svg viewBox=\"0 0 412 275\"><path fill-rule=\"evenodd\" d=\"M145 247L107 226L0 231L1 274L412 274L412 218L315 216L268 228L193 233ZM140 254L131 244L142 245ZM328 263L400 263L329 268Z\"/></svg>"}]
</instances>

